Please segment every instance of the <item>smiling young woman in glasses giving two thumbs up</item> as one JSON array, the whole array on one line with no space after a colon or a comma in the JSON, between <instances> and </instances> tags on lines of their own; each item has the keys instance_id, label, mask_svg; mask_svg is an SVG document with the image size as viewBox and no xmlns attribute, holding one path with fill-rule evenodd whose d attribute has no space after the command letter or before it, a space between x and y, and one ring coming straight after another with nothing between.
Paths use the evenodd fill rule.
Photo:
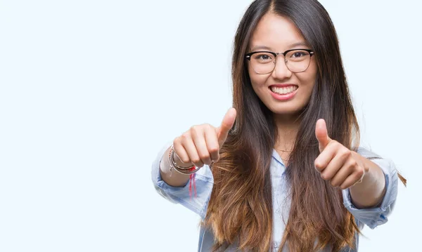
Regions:
<instances>
[{"instance_id":1,"label":"smiling young woman in glasses giving two thumbs up","mask_svg":"<svg viewBox=\"0 0 422 252\"><path fill-rule=\"evenodd\" d=\"M192 126L153 164L158 192L203 219L199 251L357 251L363 225L387 221L399 175L359 147L323 6L254 1L232 78L221 126Z\"/></svg>"}]
</instances>

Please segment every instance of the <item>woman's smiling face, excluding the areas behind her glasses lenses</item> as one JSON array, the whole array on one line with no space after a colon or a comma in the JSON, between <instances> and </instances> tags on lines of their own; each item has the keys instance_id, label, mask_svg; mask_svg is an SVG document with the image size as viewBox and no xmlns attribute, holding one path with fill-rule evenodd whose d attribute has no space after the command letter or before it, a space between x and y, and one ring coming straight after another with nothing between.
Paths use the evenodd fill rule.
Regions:
<instances>
[{"instance_id":1,"label":"woman's smiling face, excluding the areas behind her glasses lenses","mask_svg":"<svg viewBox=\"0 0 422 252\"><path fill-rule=\"evenodd\" d=\"M293 22L281 15L267 13L252 33L249 49L249 52L283 53L290 49L311 48ZM254 54L252 57L265 59L266 56ZM310 57L309 67L304 72L291 72L281 54L276 57L274 70L268 74L257 74L249 60L247 64L253 90L274 114L297 114L309 102L316 79L315 55Z\"/></svg>"}]
</instances>

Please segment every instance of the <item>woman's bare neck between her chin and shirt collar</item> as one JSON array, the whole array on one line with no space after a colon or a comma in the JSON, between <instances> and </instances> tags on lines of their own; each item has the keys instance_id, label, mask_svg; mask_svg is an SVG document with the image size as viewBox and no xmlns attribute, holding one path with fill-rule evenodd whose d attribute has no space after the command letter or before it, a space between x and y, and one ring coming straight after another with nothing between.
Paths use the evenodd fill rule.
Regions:
<instances>
[{"instance_id":1,"label":"woman's bare neck between her chin and shirt collar","mask_svg":"<svg viewBox=\"0 0 422 252\"><path fill-rule=\"evenodd\" d=\"M293 150L300 126L300 117L290 114L274 114L277 127L277 139L274 148L279 151Z\"/></svg>"}]
</instances>

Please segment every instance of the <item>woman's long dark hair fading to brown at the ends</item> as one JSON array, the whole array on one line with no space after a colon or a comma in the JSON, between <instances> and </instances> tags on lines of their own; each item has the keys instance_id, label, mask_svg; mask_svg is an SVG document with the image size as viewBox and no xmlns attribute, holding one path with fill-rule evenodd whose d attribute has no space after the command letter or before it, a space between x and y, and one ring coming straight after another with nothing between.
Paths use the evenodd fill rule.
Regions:
<instances>
[{"instance_id":1,"label":"woman's long dark hair fading to brown at the ends","mask_svg":"<svg viewBox=\"0 0 422 252\"><path fill-rule=\"evenodd\" d=\"M354 246L359 232L343 206L341 190L322 180L314 168L319 148L317 119L326 120L328 135L351 150L359 143L338 38L328 13L316 0L257 0L243 15L232 59L233 105L236 122L213 166L215 184L204 225L215 234L215 250L238 242L239 248L269 251L272 201L269 166L277 138L272 112L252 89L244 55L257 23L266 13L290 19L316 55L318 73L309 103L300 117L297 140L286 178L290 185L290 215L282 246L290 251L314 251ZM352 139L356 142L352 142ZM314 244L315 241L318 243Z\"/></svg>"}]
</instances>

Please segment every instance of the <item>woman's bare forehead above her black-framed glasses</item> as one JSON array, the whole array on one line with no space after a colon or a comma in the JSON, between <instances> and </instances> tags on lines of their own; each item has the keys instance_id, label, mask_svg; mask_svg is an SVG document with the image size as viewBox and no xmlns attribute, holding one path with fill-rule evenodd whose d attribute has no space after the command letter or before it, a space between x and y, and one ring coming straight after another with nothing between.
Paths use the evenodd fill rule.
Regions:
<instances>
[{"instance_id":1,"label":"woman's bare forehead above her black-framed glasses","mask_svg":"<svg viewBox=\"0 0 422 252\"><path fill-rule=\"evenodd\" d=\"M255 27L249 47L253 50L257 46L266 46L274 51L286 51L300 42L305 44L305 39L293 22L281 15L267 13Z\"/></svg>"}]
</instances>

